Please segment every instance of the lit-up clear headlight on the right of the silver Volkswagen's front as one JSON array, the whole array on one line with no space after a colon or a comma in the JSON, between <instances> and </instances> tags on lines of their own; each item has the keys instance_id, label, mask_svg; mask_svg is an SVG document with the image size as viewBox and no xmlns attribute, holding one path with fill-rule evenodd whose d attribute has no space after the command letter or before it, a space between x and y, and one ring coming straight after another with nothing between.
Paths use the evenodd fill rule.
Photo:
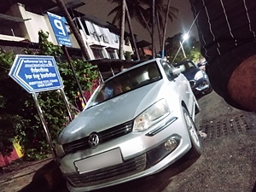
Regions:
<instances>
[{"instance_id":1,"label":"lit-up clear headlight on the right of the silver Volkswagen's front","mask_svg":"<svg viewBox=\"0 0 256 192\"><path fill-rule=\"evenodd\" d=\"M134 120L133 131L145 131L170 113L166 100L155 102Z\"/></svg>"}]
</instances>

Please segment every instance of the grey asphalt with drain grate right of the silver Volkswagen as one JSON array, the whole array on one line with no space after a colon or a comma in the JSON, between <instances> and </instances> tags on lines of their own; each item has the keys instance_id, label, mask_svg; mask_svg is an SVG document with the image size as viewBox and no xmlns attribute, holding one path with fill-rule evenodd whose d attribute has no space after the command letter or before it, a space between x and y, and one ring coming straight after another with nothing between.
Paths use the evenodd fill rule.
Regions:
<instances>
[{"instance_id":1,"label":"grey asphalt with drain grate right of the silver Volkswagen","mask_svg":"<svg viewBox=\"0 0 256 192\"><path fill-rule=\"evenodd\" d=\"M256 191L256 113L231 108L215 92L199 100L204 153L163 191Z\"/></svg>"}]
</instances>

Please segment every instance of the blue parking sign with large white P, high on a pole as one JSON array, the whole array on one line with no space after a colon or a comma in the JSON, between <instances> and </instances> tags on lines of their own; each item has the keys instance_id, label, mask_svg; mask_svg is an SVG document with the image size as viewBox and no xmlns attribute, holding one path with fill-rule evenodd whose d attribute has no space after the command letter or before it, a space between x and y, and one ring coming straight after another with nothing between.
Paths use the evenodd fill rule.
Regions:
<instances>
[{"instance_id":1,"label":"blue parking sign with large white P, high on a pole","mask_svg":"<svg viewBox=\"0 0 256 192\"><path fill-rule=\"evenodd\" d=\"M55 32L55 38L57 39L58 44L63 44L71 47L72 44L67 33L67 28L65 26L65 17L54 15L49 12L47 13L47 15L49 17L50 25Z\"/></svg>"}]
</instances>

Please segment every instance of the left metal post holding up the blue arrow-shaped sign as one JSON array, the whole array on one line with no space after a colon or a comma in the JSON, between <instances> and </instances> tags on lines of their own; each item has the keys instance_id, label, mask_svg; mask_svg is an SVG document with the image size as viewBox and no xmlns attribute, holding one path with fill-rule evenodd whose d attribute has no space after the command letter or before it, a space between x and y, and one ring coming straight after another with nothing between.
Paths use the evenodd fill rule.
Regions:
<instances>
[{"instance_id":1,"label":"left metal post holding up the blue arrow-shaped sign","mask_svg":"<svg viewBox=\"0 0 256 192\"><path fill-rule=\"evenodd\" d=\"M44 131L46 133L46 139L49 143L49 148L50 148L50 151L51 151L51 154L53 156L53 159L55 160L55 149L54 149L54 146L53 146L53 143L52 143L52 139L50 137L50 134L49 134L49 130L48 130L48 127L46 125L46 121L44 119L44 114L43 114L43 111L42 109L40 108L40 105L39 105L39 102L38 102L38 93L32 93L32 96L33 96L33 99L34 99L34 102L36 103L36 107L38 109L38 115L41 119L41 122L43 124L43 127L44 127Z\"/></svg>"}]
</instances>

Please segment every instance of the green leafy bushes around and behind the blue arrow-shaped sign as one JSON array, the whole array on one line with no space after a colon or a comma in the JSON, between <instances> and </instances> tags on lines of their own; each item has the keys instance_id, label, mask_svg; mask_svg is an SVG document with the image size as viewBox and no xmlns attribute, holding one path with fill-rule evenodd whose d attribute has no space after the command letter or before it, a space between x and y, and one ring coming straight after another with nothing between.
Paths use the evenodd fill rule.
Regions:
<instances>
[{"instance_id":1,"label":"green leafy bushes around and behind the blue arrow-shaped sign","mask_svg":"<svg viewBox=\"0 0 256 192\"><path fill-rule=\"evenodd\" d=\"M61 56L60 46L50 43L48 33L38 32L41 43L37 53L29 54ZM32 95L9 77L9 70L15 59L12 52L0 50L0 151L8 155L17 137L25 153L25 160L38 160L50 154L49 143ZM96 67L81 60L72 61L83 90L90 90L92 80L97 78ZM57 63L66 95L74 105L78 86L67 61ZM67 125L67 108L59 90L38 94L38 102L44 113L51 138L55 143L62 128ZM75 113L75 112L73 112Z\"/></svg>"}]
</instances>

